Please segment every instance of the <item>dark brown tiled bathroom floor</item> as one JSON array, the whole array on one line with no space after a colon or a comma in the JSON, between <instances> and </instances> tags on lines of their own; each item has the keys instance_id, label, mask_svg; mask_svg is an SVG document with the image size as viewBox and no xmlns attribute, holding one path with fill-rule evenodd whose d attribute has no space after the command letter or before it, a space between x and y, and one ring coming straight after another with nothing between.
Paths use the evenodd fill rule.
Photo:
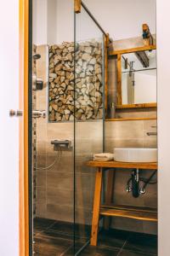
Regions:
<instances>
[{"instance_id":1,"label":"dark brown tiled bathroom floor","mask_svg":"<svg viewBox=\"0 0 170 256\"><path fill-rule=\"evenodd\" d=\"M76 251L88 241L90 227L85 230L76 227L76 235L81 230L81 241L76 238ZM56 222L50 219L36 218L34 221L34 255L73 256L72 224ZM98 247L86 247L81 256L156 256L156 236L131 233L121 230L101 231Z\"/></svg>"}]
</instances>

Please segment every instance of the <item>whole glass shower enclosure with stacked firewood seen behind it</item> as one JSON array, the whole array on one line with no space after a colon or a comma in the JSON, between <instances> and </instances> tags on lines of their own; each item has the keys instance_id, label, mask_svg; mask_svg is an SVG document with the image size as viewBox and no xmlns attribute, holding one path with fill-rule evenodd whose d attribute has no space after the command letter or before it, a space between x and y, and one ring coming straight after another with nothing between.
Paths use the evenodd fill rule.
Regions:
<instances>
[{"instance_id":1,"label":"whole glass shower enclosure with stacked firewood seen behind it","mask_svg":"<svg viewBox=\"0 0 170 256\"><path fill-rule=\"evenodd\" d=\"M76 14L73 0L46 2L32 0L32 253L78 255L91 236L87 162L105 152L106 34L84 3Z\"/></svg>"}]
</instances>

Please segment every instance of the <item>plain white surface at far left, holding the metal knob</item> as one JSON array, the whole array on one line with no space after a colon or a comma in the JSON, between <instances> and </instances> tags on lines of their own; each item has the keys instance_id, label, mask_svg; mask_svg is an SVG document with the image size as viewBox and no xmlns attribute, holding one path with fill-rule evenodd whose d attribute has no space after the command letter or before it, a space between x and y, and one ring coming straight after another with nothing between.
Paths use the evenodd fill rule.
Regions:
<instances>
[{"instance_id":1,"label":"plain white surface at far left, holding the metal knob","mask_svg":"<svg viewBox=\"0 0 170 256\"><path fill-rule=\"evenodd\" d=\"M19 4L2 1L0 9L0 255L19 255Z\"/></svg>"}]
</instances>

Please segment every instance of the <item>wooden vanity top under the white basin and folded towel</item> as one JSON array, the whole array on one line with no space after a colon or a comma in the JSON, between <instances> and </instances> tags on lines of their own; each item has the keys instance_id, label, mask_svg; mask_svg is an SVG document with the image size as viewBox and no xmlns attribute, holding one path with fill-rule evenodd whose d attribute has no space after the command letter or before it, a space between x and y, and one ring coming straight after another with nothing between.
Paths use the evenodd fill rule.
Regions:
<instances>
[{"instance_id":1,"label":"wooden vanity top under the white basin and folded towel","mask_svg":"<svg viewBox=\"0 0 170 256\"><path fill-rule=\"evenodd\" d=\"M157 163L127 163L116 161L89 161L90 167L102 167L102 168L125 168L125 169L143 169L143 170L156 170Z\"/></svg>"}]
</instances>

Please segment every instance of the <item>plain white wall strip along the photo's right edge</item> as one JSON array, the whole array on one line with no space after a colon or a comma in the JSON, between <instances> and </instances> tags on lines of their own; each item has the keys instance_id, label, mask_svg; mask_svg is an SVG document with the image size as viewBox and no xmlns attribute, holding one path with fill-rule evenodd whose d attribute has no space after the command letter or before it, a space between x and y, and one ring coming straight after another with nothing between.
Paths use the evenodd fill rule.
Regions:
<instances>
[{"instance_id":1,"label":"plain white wall strip along the photo's right edge","mask_svg":"<svg viewBox=\"0 0 170 256\"><path fill-rule=\"evenodd\" d=\"M170 2L157 3L157 81L158 81L158 206L159 256L169 256L170 242Z\"/></svg>"}]
</instances>

